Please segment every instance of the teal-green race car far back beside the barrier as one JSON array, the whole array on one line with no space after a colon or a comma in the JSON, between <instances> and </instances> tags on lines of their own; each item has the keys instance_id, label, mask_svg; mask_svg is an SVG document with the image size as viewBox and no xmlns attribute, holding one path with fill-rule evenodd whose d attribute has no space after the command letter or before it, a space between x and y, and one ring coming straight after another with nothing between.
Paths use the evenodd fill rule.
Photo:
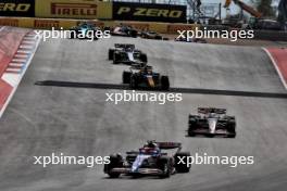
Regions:
<instances>
[{"instance_id":1,"label":"teal-green race car far back beside the barrier","mask_svg":"<svg viewBox=\"0 0 287 191\"><path fill-rule=\"evenodd\" d=\"M95 40L97 40L98 37L96 34L98 30L101 29L97 27L95 24L83 22L79 23L77 26L70 28L71 31L70 38L78 38L78 39L93 38Z\"/></svg>"}]
</instances>

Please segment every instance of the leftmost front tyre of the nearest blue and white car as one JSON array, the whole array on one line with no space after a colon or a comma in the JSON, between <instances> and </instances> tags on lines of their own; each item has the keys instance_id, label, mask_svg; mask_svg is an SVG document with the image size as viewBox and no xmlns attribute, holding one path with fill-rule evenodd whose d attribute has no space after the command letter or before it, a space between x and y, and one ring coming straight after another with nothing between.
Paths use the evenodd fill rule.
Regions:
<instances>
[{"instance_id":1,"label":"leftmost front tyre of the nearest blue and white car","mask_svg":"<svg viewBox=\"0 0 287 191\"><path fill-rule=\"evenodd\" d=\"M110 155L110 164L105 164L103 171L109 175L110 178L118 178L120 173L112 173L115 167L123 167L123 158L120 155Z\"/></svg>"}]
</instances>

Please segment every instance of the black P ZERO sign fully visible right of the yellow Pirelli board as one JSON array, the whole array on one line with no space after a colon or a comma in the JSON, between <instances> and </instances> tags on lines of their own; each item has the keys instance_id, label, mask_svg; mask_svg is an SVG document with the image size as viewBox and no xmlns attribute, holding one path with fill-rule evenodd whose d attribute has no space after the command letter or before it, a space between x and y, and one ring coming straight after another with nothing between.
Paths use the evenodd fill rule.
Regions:
<instances>
[{"instance_id":1,"label":"black P ZERO sign fully visible right of the yellow Pirelli board","mask_svg":"<svg viewBox=\"0 0 287 191\"><path fill-rule=\"evenodd\" d=\"M113 2L113 20L185 23L186 7L173 4Z\"/></svg>"}]
</instances>

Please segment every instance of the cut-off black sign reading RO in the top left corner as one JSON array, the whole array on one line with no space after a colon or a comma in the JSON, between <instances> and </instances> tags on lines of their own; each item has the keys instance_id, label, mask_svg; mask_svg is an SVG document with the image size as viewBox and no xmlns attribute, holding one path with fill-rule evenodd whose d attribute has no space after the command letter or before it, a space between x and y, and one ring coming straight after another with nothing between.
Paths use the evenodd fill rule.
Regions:
<instances>
[{"instance_id":1,"label":"cut-off black sign reading RO in the top left corner","mask_svg":"<svg viewBox=\"0 0 287 191\"><path fill-rule=\"evenodd\" d=\"M34 0L1 0L0 16L35 16Z\"/></svg>"}]
</instances>

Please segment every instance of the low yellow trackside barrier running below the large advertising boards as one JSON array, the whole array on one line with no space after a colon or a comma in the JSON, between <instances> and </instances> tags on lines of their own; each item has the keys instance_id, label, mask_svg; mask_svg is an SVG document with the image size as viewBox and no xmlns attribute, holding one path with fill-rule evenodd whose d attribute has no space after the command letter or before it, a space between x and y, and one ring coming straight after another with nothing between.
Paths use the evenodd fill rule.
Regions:
<instances>
[{"instance_id":1,"label":"low yellow trackside barrier running below the large advertising boards","mask_svg":"<svg viewBox=\"0 0 287 191\"><path fill-rule=\"evenodd\" d=\"M24 28L51 29L63 27L68 29L76 26L84 20L66 18L32 18L32 17L0 17L0 25L16 26ZM85 20L87 21L87 20ZM99 21L88 20L99 27L113 27L120 24L129 25L138 30L153 30L161 34L177 34L177 30L195 30L199 25L195 24L171 24L171 23L151 23L151 22L122 22L122 21Z\"/></svg>"}]
</instances>

